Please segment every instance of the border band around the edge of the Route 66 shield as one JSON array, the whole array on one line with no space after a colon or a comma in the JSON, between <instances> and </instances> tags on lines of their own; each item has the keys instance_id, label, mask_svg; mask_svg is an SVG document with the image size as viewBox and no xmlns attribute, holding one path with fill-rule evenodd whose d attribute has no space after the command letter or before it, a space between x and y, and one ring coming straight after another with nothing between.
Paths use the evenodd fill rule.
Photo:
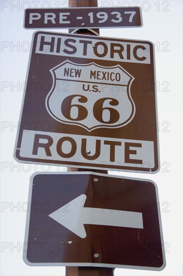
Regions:
<instances>
[{"instance_id":1,"label":"border band around the edge of the Route 66 shield","mask_svg":"<svg viewBox=\"0 0 183 276\"><path fill-rule=\"evenodd\" d=\"M54 90L55 90L55 86L56 86L56 74L55 74L55 70L60 68L61 66L65 65L65 64L71 64L71 65L74 65L74 66L91 66L91 65L94 65L100 69L115 69L115 68L119 68L124 74L126 74L128 77L129 77L129 81L127 83L126 86L126 92L127 92L127 97L128 97L128 100L129 102L131 103L131 113L130 115L128 116L128 118L121 122L121 123L117 123L117 124L98 124L98 125L94 125L92 127L87 127L86 125L78 122L78 121L70 121L70 120L63 120L63 119L60 119L59 117L57 117L51 110L50 106L49 106L49 99L50 99L50 96L54 93ZM135 104L134 104L134 101L131 97L131 94L130 94L130 87L131 87L131 84L134 80L134 77L129 74L124 68L122 68L119 64L115 65L115 66L100 66L94 62L91 62L91 63L87 63L87 64L78 64L78 63L74 63L74 62L71 62L69 60L65 60L64 62L61 62L60 64L56 65L55 67L51 68L50 70L50 73L51 73L51 76L52 76L52 87L49 91L49 93L47 94L46 96L46 99L45 99L45 107L46 107L46 110L47 112L50 114L51 117L53 117L54 119L56 119L57 121L61 122L61 123L64 123L64 124L69 124L69 125L78 125L78 126L81 126L83 128L85 128L88 132L93 130L93 129L96 129L96 128L118 128L118 127L121 127L121 126L125 126L126 124L128 124L134 117L135 115ZM64 79L62 79L64 80ZM68 81L67 79L65 79L65 81ZM71 80L70 80L71 81ZM74 81L74 80L73 80ZM76 80L75 80L76 81ZM104 82L103 82L104 83ZM64 98L63 98L64 99Z\"/></svg>"}]
</instances>

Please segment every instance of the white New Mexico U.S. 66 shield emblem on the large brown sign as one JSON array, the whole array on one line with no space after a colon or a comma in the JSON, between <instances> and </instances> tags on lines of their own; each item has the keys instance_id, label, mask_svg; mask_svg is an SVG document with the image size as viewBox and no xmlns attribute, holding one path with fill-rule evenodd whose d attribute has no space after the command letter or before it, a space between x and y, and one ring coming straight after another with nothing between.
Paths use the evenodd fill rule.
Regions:
<instances>
[{"instance_id":1,"label":"white New Mexico U.S. 66 shield emblem on the large brown sign","mask_svg":"<svg viewBox=\"0 0 183 276\"><path fill-rule=\"evenodd\" d=\"M101 67L94 62L76 64L66 60L50 71L53 84L46 98L46 109L57 121L91 131L111 127L111 124L120 127L133 118L135 106L129 87L134 78L120 65ZM112 84L103 87L101 78L109 77ZM69 89L60 93L59 87L64 81ZM118 93L113 97L112 85L118 86Z\"/></svg>"}]
</instances>

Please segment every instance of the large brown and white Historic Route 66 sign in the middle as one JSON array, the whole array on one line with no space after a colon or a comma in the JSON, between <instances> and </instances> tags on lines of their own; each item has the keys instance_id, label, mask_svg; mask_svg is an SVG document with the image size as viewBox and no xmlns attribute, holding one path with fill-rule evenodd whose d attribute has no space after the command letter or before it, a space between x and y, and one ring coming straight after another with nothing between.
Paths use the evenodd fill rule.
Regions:
<instances>
[{"instance_id":1,"label":"large brown and white Historic Route 66 sign in the middle","mask_svg":"<svg viewBox=\"0 0 183 276\"><path fill-rule=\"evenodd\" d=\"M155 173L156 123L152 43L34 33L18 161Z\"/></svg>"}]
</instances>

